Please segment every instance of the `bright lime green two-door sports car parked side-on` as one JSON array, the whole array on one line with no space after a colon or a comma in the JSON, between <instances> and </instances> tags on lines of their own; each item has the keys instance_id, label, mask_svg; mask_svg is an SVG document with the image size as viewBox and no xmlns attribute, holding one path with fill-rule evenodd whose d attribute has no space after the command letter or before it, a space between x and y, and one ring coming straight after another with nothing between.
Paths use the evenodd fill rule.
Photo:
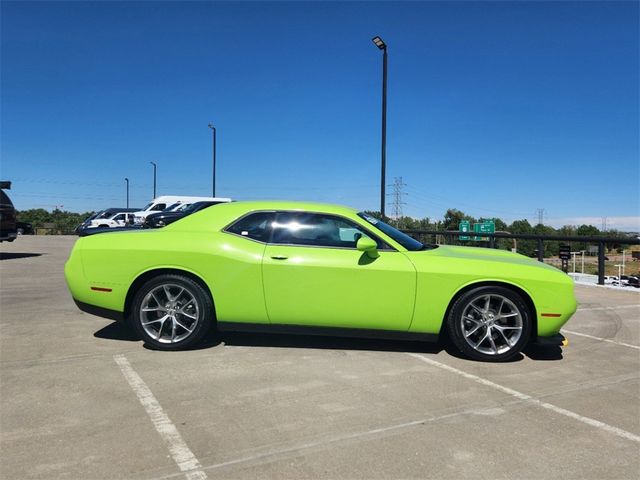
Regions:
<instances>
[{"instance_id":1,"label":"bright lime green two-door sports car parked side-on","mask_svg":"<svg viewBox=\"0 0 640 480\"><path fill-rule=\"evenodd\" d=\"M365 213L300 202L216 205L160 230L80 238L65 266L83 311L149 346L211 328L449 337L478 360L564 344L572 280L507 251L425 245Z\"/></svg>"}]
</instances>

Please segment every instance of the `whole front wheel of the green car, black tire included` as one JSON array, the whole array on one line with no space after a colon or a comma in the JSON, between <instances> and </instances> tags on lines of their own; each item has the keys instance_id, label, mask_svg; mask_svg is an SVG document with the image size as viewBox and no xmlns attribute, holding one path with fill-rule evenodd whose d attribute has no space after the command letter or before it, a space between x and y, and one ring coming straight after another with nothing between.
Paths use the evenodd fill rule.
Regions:
<instances>
[{"instance_id":1,"label":"whole front wheel of the green car, black tire included","mask_svg":"<svg viewBox=\"0 0 640 480\"><path fill-rule=\"evenodd\" d=\"M446 327L451 342L465 356L504 362L525 347L532 322L532 312L521 295L505 287L485 286L456 299Z\"/></svg>"}]
</instances>

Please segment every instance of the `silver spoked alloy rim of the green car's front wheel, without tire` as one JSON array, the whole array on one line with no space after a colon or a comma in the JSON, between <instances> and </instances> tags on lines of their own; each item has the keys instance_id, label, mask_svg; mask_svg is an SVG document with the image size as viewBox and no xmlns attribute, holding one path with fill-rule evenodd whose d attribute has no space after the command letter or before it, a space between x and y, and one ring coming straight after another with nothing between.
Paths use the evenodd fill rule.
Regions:
<instances>
[{"instance_id":1,"label":"silver spoked alloy rim of the green car's front wheel, without tire","mask_svg":"<svg viewBox=\"0 0 640 480\"><path fill-rule=\"evenodd\" d=\"M502 295L475 297L464 308L460 323L465 341L486 355L508 352L522 336L522 314Z\"/></svg>"}]
</instances>

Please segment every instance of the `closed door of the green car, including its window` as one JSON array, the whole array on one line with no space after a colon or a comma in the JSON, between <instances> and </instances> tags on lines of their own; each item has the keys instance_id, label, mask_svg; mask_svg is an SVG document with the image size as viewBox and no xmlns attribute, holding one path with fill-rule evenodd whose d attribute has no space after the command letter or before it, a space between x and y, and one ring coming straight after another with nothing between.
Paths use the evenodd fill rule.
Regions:
<instances>
[{"instance_id":1,"label":"closed door of the green car, including its window","mask_svg":"<svg viewBox=\"0 0 640 480\"><path fill-rule=\"evenodd\" d=\"M361 235L379 256L356 249ZM272 324L406 331L416 271L402 253L336 215L280 212L262 264Z\"/></svg>"}]
</instances>

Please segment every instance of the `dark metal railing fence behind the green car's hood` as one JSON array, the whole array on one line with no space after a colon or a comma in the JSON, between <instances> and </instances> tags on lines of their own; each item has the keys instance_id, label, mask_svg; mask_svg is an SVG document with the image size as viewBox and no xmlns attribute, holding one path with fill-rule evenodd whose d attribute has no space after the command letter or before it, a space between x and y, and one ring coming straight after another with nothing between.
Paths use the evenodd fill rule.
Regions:
<instances>
[{"instance_id":1,"label":"dark metal railing fence behind the green car's hood","mask_svg":"<svg viewBox=\"0 0 640 480\"><path fill-rule=\"evenodd\" d=\"M544 245L545 242L579 242L583 244L591 243L596 244L598 249L598 284L604 285L605 277L605 254L607 246L614 245L640 245L640 239L632 237L605 237L605 236L582 236L582 235L537 235L526 233L508 233L508 232L495 232L495 233L474 233L474 232L460 232L457 230L403 230L404 233L420 240L423 243L450 243L450 244L462 244L469 245L475 244L476 246L488 246L489 248L496 247L496 239L514 239L517 240L534 240L536 242L535 256L538 261L544 261ZM481 237L487 240L460 240L461 236L467 237Z\"/></svg>"}]
</instances>

